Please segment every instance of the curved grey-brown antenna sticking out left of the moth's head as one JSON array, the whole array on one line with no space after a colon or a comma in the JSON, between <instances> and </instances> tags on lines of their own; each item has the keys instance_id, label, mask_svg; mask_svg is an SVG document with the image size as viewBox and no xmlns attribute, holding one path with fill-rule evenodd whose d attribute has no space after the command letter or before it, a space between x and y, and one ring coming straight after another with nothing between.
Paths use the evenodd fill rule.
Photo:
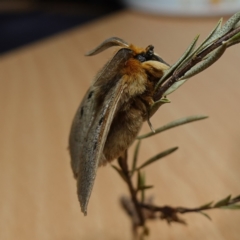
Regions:
<instances>
[{"instance_id":1,"label":"curved grey-brown antenna sticking out left of the moth's head","mask_svg":"<svg viewBox=\"0 0 240 240\"><path fill-rule=\"evenodd\" d=\"M119 46L119 47L125 47L128 48L129 44L127 42L125 42L123 39L118 38L118 37L111 37L106 39L105 41L103 41L100 45L98 45L96 48L94 48L93 50L87 52L85 54L85 56L93 56L96 55L110 47L114 47L114 46Z\"/></svg>"}]
</instances>

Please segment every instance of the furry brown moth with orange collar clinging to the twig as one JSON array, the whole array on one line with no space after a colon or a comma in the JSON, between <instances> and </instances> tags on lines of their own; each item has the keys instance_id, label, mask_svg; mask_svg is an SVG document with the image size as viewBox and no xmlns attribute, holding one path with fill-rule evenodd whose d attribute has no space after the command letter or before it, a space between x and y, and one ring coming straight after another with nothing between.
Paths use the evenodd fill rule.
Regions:
<instances>
[{"instance_id":1,"label":"furry brown moth with orange collar clinging to the twig","mask_svg":"<svg viewBox=\"0 0 240 240\"><path fill-rule=\"evenodd\" d=\"M120 49L95 77L73 119L69 137L71 166L84 215L97 168L124 154L133 143L143 122L153 114L155 84L169 68L152 45L139 48L117 37L86 55L112 46Z\"/></svg>"}]
</instances>

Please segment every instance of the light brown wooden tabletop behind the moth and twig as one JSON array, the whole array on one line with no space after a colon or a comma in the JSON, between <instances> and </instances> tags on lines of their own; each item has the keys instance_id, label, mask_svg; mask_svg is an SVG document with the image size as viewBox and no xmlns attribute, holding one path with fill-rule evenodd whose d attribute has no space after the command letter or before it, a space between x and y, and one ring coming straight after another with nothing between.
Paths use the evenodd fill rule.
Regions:
<instances>
[{"instance_id":1,"label":"light brown wooden tabletop behind the moth and twig","mask_svg":"<svg viewBox=\"0 0 240 240\"><path fill-rule=\"evenodd\" d=\"M172 64L196 34L217 19L171 19L121 12L0 57L0 239L131 239L119 205L126 186L110 167L98 172L88 216L76 196L67 151L73 115L97 70L111 56L84 53L110 36L153 44ZM240 46L170 95L153 117L156 128L188 115L210 118L146 140L141 161L180 149L146 168L158 205L196 207L240 194ZM149 131L144 125L143 132ZM212 210L182 216L188 226L149 222L149 239L238 240L240 212Z\"/></svg>"}]
</instances>

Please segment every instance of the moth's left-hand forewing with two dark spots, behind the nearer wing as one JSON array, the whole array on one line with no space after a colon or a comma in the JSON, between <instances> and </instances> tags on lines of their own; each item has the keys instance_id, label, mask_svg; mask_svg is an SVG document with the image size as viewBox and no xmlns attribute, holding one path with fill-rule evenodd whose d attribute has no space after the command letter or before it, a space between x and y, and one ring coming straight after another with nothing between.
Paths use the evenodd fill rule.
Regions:
<instances>
[{"instance_id":1,"label":"moth's left-hand forewing with two dark spots, behind the nearer wing","mask_svg":"<svg viewBox=\"0 0 240 240\"><path fill-rule=\"evenodd\" d=\"M85 145L87 133L95 116L97 116L100 111L100 109L96 108L96 103L100 101L96 93L100 91L100 87L104 85L106 85L106 91L111 92L113 90L111 89L111 85L114 87L114 83L112 82L115 80L116 75L119 73L118 70L129 58L130 54L131 51L129 49L120 49L114 57L105 64L94 80L93 84L95 86L92 85L89 88L75 114L69 136L71 166L75 177L79 172L79 156L80 153L83 152L82 149L84 148L83 145ZM107 93L103 94L106 95ZM104 106L104 101L100 104Z\"/></svg>"}]
</instances>

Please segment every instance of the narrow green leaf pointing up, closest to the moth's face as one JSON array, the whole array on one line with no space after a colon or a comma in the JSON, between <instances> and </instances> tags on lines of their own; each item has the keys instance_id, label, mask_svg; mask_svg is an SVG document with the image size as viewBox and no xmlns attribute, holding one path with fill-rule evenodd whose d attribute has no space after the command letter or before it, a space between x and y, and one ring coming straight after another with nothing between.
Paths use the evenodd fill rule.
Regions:
<instances>
[{"instance_id":1,"label":"narrow green leaf pointing up, closest to the moth's face","mask_svg":"<svg viewBox=\"0 0 240 240\"><path fill-rule=\"evenodd\" d=\"M159 86L166 80L168 79L172 73L181 65L181 63L189 56L189 54L192 53L192 51L194 50L197 40L199 38L199 35L197 35L193 41L191 42L191 44L188 46L188 48L186 49L186 51L183 53L183 55L176 61L176 63L174 63L168 70L166 70L164 72L164 75L160 78L160 80L158 81L158 83L156 84L155 90L159 88Z\"/></svg>"}]
</instances>

